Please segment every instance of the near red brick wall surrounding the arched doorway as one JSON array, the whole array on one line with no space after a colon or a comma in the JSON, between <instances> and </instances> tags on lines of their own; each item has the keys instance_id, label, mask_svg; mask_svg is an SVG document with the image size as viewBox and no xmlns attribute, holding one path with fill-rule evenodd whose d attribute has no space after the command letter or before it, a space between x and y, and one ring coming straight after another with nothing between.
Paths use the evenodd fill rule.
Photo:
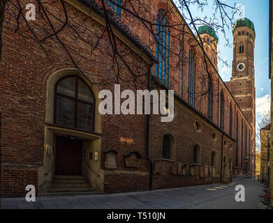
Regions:
<instances>
[{"instance_id":1,"label":"near red brick wall surrounding the arched doorway","mask_svg":"<svg viewBox=\"0 0 273 223\"><path fill-rule=\"evenodd\" d=\"M20 3L24 6L26 3L31 3L31 1L20 1ZM34 1L32 3L35 4ZM55 15L61 13L54 5L48 5L47 7ZM15 10L13 6L10 6L10 9ZM117 67L112 69L111 47L107 35L100 40L99 49L91 52L94 43L96 43L94 42L95 37L98 38L103 33L103 26L68 4L66 4L66 9L70 16L70 25L79 31L82 29L80 24L85 24L87 29L84 30L82 36L84 36L85 40L89 40L90 45L83 43L79 38L73 38L75 33L68 26L59 33L59 38L63 40L84 75L91 82L103 83L97 85L98 90L110 89L112 91L114 84L117 82ZM0 63L1 162L41 166L43 165L44 151L47 79L57 70L74 68L75 66L64 48L56 43L56 38L53 38L53 40L47 39L43 44L49 56L47 58L40 45L30 38L30 33L25 33L22 36L20 32L14 31L17 23L15 17L11 17L11 20L9 20L9 13L10 11L6 12L3 26L3 52ZM20 28L26 29L22 17L20 22ZM38 27L43 26L43 22L30 24L36 26L37 30ZM60 27L61 23L54 20L54 26ZM38 31L38 35L40 35L38 38L43 38L42 34L43 31ZM120 40L116 39L116 41L117 47L124 50L126 61L140 65L138 66L139 70L134 70L134 72L137 72L140 76L142 75L145 79L149 70L148 64L128 47L125 47ZM121 91L123 89L133 89L135 91L135 87L131 82L132 75L124 66L120 67L120 75L122 78L129 79L125 83L122 83L119 79ZM145 89L147 89L146 84ZM98 112L98 108L96 108L96 112ZM146 116L103 116L102 128L102 151L111 148L119 152L117 157L118 169L124 169L124 153L128 150L138 151L142 155L140 171L147 169L148 162L145 159ZM121 137L131 138L133 143L124 144L120 141ZM104 161L102 155L102 168L104 168ZM7 167L3 169L2 173L6 173L1 180L2 186L6 188L7 185L13 185L10 195L22 195L25 186L29 183L38 185L37 172L35 175L32 170ZM32 174L35 177L32 177ZM129 182L131 186L126 185L126 181L124 181L122 187L137 190L138 181L141 179L141 177L135 178L135 182L131 180ZM145 182L145 180L142 181ZM117 185L115 185L115 182L117 182ZM112 183L112 188L119 188L121 184L118 180L115 182ZM147 185L145 187L147 188ZM121 189L119 188L119 190Z\"/></svg>"}]
</instances>

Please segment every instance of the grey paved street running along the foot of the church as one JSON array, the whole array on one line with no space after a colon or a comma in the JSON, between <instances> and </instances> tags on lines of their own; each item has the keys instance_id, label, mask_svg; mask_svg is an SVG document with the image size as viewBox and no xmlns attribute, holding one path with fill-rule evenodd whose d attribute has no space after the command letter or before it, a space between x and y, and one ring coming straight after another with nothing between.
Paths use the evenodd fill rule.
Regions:
<instances>
[{"instance_id":1,"label":"grey paved street running along the foot of the church","mask_svg":"<svg viewBox=\"0 0 273 223\"><path fill-rule=\"evenodd\" d=\"M236 178L230 185L202 185L148 192L1 199L3 209L184 209L184 208L260 208L263 185L256 179ZM246 201L235 201L235 185L244 185Z\"/></svg>"}]
</instances>

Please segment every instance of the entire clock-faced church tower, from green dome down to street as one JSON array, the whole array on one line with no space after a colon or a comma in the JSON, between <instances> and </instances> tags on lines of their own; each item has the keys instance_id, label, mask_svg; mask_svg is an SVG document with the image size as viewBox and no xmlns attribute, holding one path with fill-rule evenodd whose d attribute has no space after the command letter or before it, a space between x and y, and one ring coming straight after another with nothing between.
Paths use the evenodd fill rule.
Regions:
<instances>
[{"instance_id":1,"label":"entire clock-faced church tower, from green dome down to street","mask_svg":"<svg viewBox=\"0 0 273 223\"><path fill-rule=\"evenodd\" d=\"M236 146L235 166L245 169L244 173L255 174L256 160L256 90L255 90L255 69L254 69L254 47L255 47L254 24L247 18L237 20L233 27L233 71L230 78L230 92L233 94L244 116L252 125L252 132L247 136L243 123L236 123L236 138L243 137L243 143ZM239 129L238 129L239 127ZM240 132L240 133L238 133ZM246 137L251 141L251 149L246 152ZM237 140L237 139L236 139ZM242 139L241 139L242 141ZM240 146L240 152L239 152ZM236 161L237 160L237 161Z\"/></svg>"}]
</instances>

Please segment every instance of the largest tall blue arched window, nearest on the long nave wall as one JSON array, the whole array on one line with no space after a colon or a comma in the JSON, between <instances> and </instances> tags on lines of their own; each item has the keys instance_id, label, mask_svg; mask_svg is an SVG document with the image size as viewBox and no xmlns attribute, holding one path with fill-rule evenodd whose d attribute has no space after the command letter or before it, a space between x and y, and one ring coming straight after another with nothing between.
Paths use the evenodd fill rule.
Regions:
<instances>
[{"instance_id":1,"label":"largest tall blue arched window, nearest on the long nave wall","mask_svg":"<svg viewBox=\"0 0 273 223\"><path fill-rule=\"evenodd\" d=\"M156 77L164 86L169 86L170 69L170 29L165 10L160 9L157 13L156 26Z\"/></svg>"}]
</instances>

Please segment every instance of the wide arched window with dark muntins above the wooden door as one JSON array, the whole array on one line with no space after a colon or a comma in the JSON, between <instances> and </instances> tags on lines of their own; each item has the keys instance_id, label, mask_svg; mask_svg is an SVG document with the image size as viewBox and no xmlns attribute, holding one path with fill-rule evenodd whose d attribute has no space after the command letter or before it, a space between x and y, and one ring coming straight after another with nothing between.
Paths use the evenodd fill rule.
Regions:
<instances>
[{"instance_id":1,"label":"wide arched window with dark muntins above the wooden door","mask_svg":"<svg viewBox=\"0 0 273 223\"><path fill-rule=\"evenodd\" d=\"M78 76L61 78L55 86L54 123L67 128L94 130L94 95Z\"/></svg>"}]
</instances>

